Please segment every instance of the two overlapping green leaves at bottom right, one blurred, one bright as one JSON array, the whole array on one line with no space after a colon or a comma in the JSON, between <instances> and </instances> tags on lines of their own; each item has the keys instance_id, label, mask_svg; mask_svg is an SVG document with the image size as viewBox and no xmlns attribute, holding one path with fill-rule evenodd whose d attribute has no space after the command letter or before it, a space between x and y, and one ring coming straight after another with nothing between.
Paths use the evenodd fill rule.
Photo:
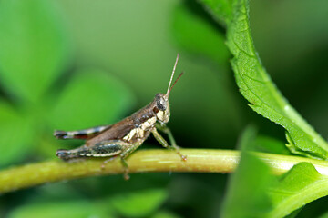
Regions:
<instances>
[{"instance_id":1,"label":"two overlapping green leaves at bottom right, one blurred, one bright","mask_svg":"<svg viewBox=\"0 0 328 218\"><path fill-rule=\"evenodd\" d=\"M328 194L328 177L311 163L298 163L288 173L273 176L270 168L249 152L255 138L253 126L241 135L241 163L231 176L221 217L294 217L300 212L296 209Z\"/></svg>"}]
</instances>

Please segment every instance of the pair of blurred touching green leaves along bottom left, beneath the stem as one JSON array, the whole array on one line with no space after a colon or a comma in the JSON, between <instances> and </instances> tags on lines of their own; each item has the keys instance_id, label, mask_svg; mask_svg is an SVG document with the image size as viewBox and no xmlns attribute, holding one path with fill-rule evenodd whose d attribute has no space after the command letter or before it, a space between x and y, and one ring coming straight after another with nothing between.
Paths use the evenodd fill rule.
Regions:
<instances>
[{"instance_id":1,"label":"pair of blurred touching green leaves along bottom left, beneath the stem","mask_svg":"<svg viewBox=\"0 0 328 218\"><path fill-rule=\"evenodd\" d=\"M150 214L159 216L155 211L166 198L167 193L164 190L147 190L96 201L29 203L9 213L8 217L149 217Z\"/></svg>"}]
</instances>

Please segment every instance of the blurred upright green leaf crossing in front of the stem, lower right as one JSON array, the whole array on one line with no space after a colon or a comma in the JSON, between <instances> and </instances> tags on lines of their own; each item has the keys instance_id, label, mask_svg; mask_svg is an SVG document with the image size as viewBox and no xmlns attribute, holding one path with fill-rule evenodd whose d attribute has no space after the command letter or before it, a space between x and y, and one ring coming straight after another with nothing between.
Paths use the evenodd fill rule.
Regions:
<instances>
[{"instance_id":1,"label":"blurred upright green leaf crossing in front of the stem, lower right","mask_svg":"<svg viewBox=\"0 0 328 218\"><path fill-rule=\"evenodd\" d=\"M241 161L231 175L220 217L264 217L272 205L266 193L272 180L269 167L247 152L256 131L248 127L241 136Z\"/></svg>"}]
</instances>

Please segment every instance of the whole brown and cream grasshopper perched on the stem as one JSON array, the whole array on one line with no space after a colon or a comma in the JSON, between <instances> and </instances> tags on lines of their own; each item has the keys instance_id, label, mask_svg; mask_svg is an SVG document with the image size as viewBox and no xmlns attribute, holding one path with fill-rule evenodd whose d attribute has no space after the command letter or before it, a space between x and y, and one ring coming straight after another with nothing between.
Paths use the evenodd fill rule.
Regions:
<instances>
[{"instance_id":1,"label":"whole brown and cream grasshopper perched on the stem","mask_svg":"<svg viewBox=\"0 0 328 218\"><path fill-rule=\"evenodd\" d=\"M182 161L187 160L187 156L179 153L179 147L175 143L173 135L166 124L169 122L169 94L178 82L181 74L171 85L173 76L178 64L179 54L175 61L172 74L169 80L169 87L166 94L156 94L154 100L145 107L138 110L138 112L126 117L112 125L101 125L89 129L77 131L61 131L56 130L54 136L57 139L84 139L86 143L77 147L76 149L64 150L59 149L56 155L64 160L70 161L72 159L84 157L110 157L104 161L102 168L108 161L116 157L120 157L121 163L124 167L124 178L128 180L128 163L125 159L129 154L133 153L143 142L153 134L159 144L166 148L176 151L181 157ZM168 134L170 144L159 134L162 131Z\"/></svg>"}]
</instances>

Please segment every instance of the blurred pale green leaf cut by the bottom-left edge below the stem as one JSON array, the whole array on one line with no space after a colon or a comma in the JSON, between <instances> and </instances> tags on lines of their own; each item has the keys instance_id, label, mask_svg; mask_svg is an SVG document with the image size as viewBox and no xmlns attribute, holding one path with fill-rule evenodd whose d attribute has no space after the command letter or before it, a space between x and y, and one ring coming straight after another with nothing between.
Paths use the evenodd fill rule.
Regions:
<instances>
[{"instance_id":1,"label":"blurred pale green leaf cut by the bottom-left edge below the stem","mask_svg":"<svg viewBox=\"0 0 328 218\"><path fill-rule=\"evenodd\" d=\"M9 213L8 218L57 218L57 217L112 217L92 203L87 202L60 202L34 203L16 208Z\"/></svg>"}]
</instances>

